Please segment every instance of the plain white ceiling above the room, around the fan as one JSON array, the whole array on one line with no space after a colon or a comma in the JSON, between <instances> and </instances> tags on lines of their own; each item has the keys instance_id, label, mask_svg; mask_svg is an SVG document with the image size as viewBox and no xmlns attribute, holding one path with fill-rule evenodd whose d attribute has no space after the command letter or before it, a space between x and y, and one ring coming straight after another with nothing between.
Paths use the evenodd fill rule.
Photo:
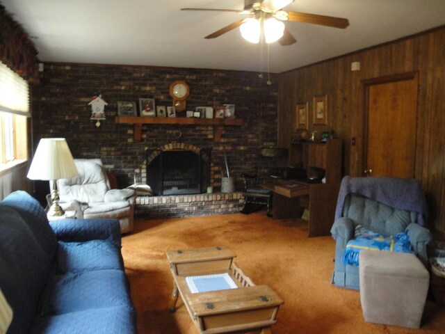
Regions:
<instances>
[{"instance_id":1,"label":"plain white ceiling above the room, around the fan","mask_svg":"<svg viewBox=\"0 0 445 334\"><path fill-rule=\"evenodd\" d=\"M266 72L267 45L234 29L244 0L0 0L33 36L40 61L198 67ZM296 0L286 10L344 17L346 29L285 22L296 44L269 47L270 72L284 72L445 24L445 0Z\"/></svg>"}]
</instances>

